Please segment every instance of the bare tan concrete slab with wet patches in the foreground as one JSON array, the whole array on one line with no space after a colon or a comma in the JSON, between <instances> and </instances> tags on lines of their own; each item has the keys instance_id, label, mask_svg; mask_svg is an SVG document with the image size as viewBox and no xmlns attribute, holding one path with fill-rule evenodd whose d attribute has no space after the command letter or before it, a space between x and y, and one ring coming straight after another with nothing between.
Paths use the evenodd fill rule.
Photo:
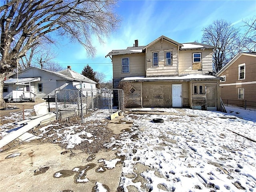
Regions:
<instances>
[{"instance_id":1,"label":"bare tan concrete slab with wet patches in the foreground","mask_svg":"<svg viewBox=\"0 0 256 192\"><path fill-rule=\"evenodd\" d=\"M80 150L64 150L57 144L30 142L16 146L0 153L0 191L91 192L96 182L100 182L110 192L115 192L122 163L108 169L98 160L118 158L116 152L101 151L95 154L95 158L88 158L89 155ZM14 153L20 153L20 156L6 158ZM77 171L73 171L74 168ZM85 170L84 174L82 170ZM77 182L79 178L87 178L88 182Z\"/></svg>"}]
</instances>

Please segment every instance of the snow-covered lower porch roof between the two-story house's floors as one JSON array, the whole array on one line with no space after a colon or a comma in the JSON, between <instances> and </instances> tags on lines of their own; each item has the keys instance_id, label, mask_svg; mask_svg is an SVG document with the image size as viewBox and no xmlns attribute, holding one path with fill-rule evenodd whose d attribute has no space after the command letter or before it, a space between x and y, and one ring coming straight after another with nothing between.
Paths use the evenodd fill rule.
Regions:
<instances>
[{"instance_id":1,"label":"snow-covered lower porch roof between the two-story house's floors","mask_svg":"<svg viewBox=\"0 0 256 192\"><path fill-rule=\"evenodd\" d=\"M126 77L121 81L163 81L163 80L211 80L220 79L213 75L188 74L184 76L164 76L164 77Z\"/></svg>"}]
</instances>

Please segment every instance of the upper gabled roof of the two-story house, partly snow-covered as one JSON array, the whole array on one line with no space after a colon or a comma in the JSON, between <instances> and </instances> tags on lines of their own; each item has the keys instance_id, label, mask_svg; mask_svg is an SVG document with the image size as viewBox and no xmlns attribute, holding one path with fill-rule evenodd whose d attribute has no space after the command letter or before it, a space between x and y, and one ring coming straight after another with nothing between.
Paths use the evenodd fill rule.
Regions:
<instances>
[{"instance_id":1,"label":"upper gabled roof of the two-story house, partly snow-covered","mask_svg":"<svg viewBox=\"0 0 256 192\"><path fill-rule=\"evenodd\" d=\"M176 46L180 46L181 50L192 50L192 49L214 49L217 48L215 46L211 46L211 45L206 45L206 44L202 44L202 43L197 43L197 42L190 42L190 43L178 43L166 36L160 36L159 38L157 38L156 40L152 41L150 44L146 45L146 46L138 46L138 47L127 47L126 49L120 49L120 50L112 50L111 52L109 52L105 57L107 56L112 56L112 55L126 55L126 54L136 54L136 53L142 53L144 52L144 50L146 50L146 48L152 46L153 44L155 44L156 42L158 42L159 40L166 40Z\"/></svg>"}]
</instances>

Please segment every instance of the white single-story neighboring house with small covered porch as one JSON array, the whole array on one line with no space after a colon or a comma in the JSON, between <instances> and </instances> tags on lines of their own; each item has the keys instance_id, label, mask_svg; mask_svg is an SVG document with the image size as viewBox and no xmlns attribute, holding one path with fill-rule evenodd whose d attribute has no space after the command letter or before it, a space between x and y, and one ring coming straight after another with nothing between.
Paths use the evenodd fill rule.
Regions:
<instances>
[{"instance_id":1,"label":"white single-story neighboring house with small covered porch","mask_svg":"<svg viewBox=\"0 0 256 192\"><path fill-rule=\"evenodd\" d=\"M18 77L18 78L17 78ZM68 69L52 72L45 69L29 67L4 81L4 100L38 100L54 99L56 89L95 89L96 82Z\"/></svg>"}]
</instances>

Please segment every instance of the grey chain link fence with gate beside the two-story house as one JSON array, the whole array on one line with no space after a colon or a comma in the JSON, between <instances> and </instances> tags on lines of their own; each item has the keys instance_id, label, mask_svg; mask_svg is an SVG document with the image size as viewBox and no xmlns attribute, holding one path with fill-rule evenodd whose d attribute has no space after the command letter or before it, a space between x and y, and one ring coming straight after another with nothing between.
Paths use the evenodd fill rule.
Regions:
<instances>
[{"instance_id":1,"label":"grey chain link fence with gate beside the two-story house","mask_svg":"<svg viewBox=\"0 0 256 192\"><path fill-rule=\"evenodd\" d=\"M122 89L68 89L55 91L57 120L84 116L101 110L106 115L124 110Z\"/></svg>"}]
</instances>

